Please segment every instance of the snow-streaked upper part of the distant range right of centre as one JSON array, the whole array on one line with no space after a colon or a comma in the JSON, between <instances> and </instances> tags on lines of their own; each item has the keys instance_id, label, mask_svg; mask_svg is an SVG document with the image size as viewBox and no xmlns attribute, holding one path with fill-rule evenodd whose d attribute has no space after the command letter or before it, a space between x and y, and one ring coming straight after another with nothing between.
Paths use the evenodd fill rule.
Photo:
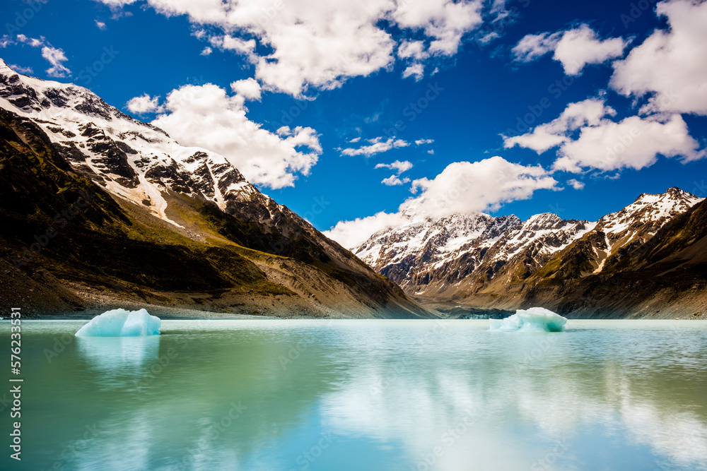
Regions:
<instances>
[{"instance_id":1,"label":"snow-streaked upper part of the distant range right of centre","mask_svg":"<svg viewBox=\"0 0 707 471\"><path fill-rule=\"evenodd\" d=\"M565 252L590 267L583 273L600 273L606 261L619 261L699 201L672 188L658 195L644 193L597 222L563 220L553 213L525 222L514 215L427 218L377 232L354 254L410 294L464 299L522 283Z\"/></svg>"}]
</instances>

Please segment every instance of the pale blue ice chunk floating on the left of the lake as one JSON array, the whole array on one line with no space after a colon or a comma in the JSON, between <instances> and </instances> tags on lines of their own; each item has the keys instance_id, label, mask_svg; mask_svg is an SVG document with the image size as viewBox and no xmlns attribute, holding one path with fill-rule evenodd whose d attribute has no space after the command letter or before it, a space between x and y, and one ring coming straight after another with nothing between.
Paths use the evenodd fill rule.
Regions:
<instances>
[{"instance_id":1,"label":"pale blue ice chunk floating on the left of the lake","mask_svg":"<svg viewBox=\"0 0 707 471\"><path fill-rule=\"evenodd\" d=\"M95 316L86 326L78 329L76 337L135 337L160 335L160 318L151 316L145 309L126 311L114 309Z\"/></svg>"}]
</instances>

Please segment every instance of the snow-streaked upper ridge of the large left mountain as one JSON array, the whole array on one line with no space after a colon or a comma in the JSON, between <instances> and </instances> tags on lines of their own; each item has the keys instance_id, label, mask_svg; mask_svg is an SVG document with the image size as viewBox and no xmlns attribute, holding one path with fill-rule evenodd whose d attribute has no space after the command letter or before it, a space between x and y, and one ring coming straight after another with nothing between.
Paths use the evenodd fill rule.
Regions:
<instances>
[{"instance_id":1,"label":"snow-streaked upper ridge of the large left mountain","mask_svg":"<svg viewBox=\"0 0 707 471\"><path fill-rule=\"evenodd\" d=\"M170 191L213 201L223 210L252 198L276 206L225 157L182 146L86 88L22 76L3 62L0 107L35 121L78 172L174 225L180 226L168 215Z\"/></svg>"}]
</instances>

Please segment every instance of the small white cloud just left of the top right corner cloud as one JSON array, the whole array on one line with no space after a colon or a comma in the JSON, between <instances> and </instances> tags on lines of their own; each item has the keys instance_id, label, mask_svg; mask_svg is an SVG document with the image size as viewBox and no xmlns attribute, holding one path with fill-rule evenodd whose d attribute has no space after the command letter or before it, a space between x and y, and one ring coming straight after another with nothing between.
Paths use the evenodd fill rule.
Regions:
<instances>
[{"instance_id":1,"label":"small white cloud just left of the top right corner cloud","mask_svg":"<svg viewBox=\"0 0 707 471\"><path fill-rule=\"evenodd\" d=\"M559 61L567 75L577 76L587 64L603 64L624 54L629 42L621 37L600 40L588 25L554 33L527 35L513 47L516 61L530 62L549 52Z\"/></svg>"}]
</instances>

